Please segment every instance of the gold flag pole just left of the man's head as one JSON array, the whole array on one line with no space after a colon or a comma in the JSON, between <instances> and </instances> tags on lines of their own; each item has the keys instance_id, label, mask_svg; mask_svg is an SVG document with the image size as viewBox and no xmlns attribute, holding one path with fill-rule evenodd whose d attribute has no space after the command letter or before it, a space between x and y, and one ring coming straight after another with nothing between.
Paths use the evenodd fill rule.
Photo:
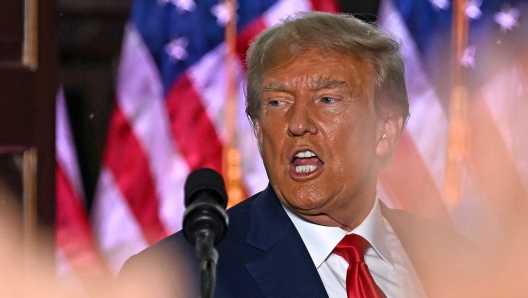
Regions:
<instances>
[{"instance_id":1,"label":"gold flag pole just left of the man's head","mask_svg":"<svg viewBox=\"0 0 528 298\"><path fill-rule=\"evenodd\" d=\"M226 0L229 12L229 21L225 26L226 40L226 108L225 125L227 140L222 154L222 174L226 183L228 208L244 199L242 187L242 171L240 169L240 152L237 146L236 119L237 119L237 79L236 79L236 38L237 15L236 0Z\"/></svg>"}]
</instances>

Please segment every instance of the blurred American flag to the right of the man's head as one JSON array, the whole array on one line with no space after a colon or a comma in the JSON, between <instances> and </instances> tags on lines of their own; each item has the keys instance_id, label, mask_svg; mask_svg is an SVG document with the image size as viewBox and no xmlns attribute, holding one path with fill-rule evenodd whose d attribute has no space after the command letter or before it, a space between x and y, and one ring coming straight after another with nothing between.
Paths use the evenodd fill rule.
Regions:
<instances>
[{"instance_id":1,"label":"blurred American flag to the right of the man's head","mask_svg":"<svg viewBox=\"0 0 528 298\"><path fill-rule=\"evenodd\" d=\"M382 1L381 25L403 44L411 118L379 188L394 207L491 241L527 215L528 2L459 3L467 28L453 28L455 1ZM457 34L467 36L458 57ZM447 153L460 150L448 144L454 85L467 98L464 126L451 127L465 136L455 200L445 187Z\"/></svg>"}]
</instances>

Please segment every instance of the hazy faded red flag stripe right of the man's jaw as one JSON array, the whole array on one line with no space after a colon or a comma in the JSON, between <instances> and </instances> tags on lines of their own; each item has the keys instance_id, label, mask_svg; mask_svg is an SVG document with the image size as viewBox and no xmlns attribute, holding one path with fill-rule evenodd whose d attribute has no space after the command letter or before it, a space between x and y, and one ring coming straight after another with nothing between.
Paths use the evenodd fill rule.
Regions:
<instances>
[{"instance_id":1,"label":"hazy faded red flag stripe right of the man's jaw","mask_svg":"<svg viewBox=\"0 0 528 298\"><path fill-rule=\"evenodd\" d=\"M391 164L380 173L390 199L403 209L453 225L438 189L407 131L404 131Z\"/></svg>"}]
</instances>

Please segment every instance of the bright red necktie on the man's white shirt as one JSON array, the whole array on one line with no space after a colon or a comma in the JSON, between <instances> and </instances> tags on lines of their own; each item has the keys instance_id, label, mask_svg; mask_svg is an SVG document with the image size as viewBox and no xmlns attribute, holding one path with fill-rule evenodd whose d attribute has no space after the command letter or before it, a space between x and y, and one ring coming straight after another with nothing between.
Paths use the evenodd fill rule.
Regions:
<instances>
[{"instance_id":1,"label":"bright red necktie on the man's white shirt","mask_svg":"<svg viewBox=\"0 0 528 298\"><path fill-rule=\"evenodd\" d=\"M345 236L334 248L333 253L343 257L348 262L346 277L348 298L386 297L372 279L367 264L365 264L364 254L369 245L365 238L350 234Z\"/></svg>"}]
</instances>

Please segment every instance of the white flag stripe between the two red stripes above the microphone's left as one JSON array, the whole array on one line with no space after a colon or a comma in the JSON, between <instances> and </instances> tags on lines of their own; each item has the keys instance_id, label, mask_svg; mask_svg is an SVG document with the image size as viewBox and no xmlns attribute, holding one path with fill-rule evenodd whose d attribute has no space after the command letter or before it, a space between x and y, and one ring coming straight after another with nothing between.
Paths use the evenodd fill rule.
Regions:
<instances>
[{"instance_id":1,"label":"white flag stripe between the two red stripes above the microphone's left","mask_svg":"<svg viewBox=\"0 0 528 298\"><path fill-rule=\"evenodd\" d=\"M175 232L182 225L183 183L189 168L172 140L161 78L132 24L126 27L122 48L118 104L148 157L160 204L160 219L167 231Z\"/></svg>"}]
</instances>

